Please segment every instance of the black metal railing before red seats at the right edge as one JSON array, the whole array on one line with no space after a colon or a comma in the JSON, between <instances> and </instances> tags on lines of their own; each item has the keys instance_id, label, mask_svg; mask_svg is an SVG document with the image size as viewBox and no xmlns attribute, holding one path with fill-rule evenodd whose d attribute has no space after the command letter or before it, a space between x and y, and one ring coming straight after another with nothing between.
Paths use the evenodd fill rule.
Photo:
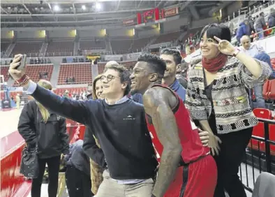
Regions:
<instances>
[{"instance_id":1,"label":"black metal railing before red seats at the right edge","mask_svg":"<svg viewBox=\"0 0 275 197\"><path fill-rule=\"evenodd\" d=\"M269 127L270 125L275 125L275 120L272 119L262 119L258 118L259 122L264 124L264 138L259 136L252 136L248 149L244 157L243 163L239 168L239 175L241 182L244 184L244 188L251 193L253 192L253 187L255 181L260 175L260 173L267 172L275 174L275 155L271 153L271 145L275 147L275 141L269 139ZM274 131L275 132L275 131ZM275 133L274 133L275 135ZM257 146L253 146L253 140L256 140ZM265 145L263 145L265 143ZM256 148L256 149L255 149ZM243 172L245 168L245 174ZM249 184L252 174L252 185Z\"/></svg>"}]
</instances>

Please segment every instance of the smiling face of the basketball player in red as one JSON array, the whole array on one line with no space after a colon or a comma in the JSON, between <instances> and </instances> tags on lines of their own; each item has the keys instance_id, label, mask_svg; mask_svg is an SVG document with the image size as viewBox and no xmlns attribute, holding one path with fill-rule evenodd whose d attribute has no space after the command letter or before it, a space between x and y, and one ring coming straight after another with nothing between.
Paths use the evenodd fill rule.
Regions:
<instances>
[{"instance_id":1,"label":"smiling face of the basketball player in red","mask_svg":"<svg viewBox=\"0 0 275 197\"><path fill-rule=\"evenodd\" d=\"M149 85L151 85L150 74L151 72L147 66L147 62L137 61L137 64L135 64L135 67L133 68L133 73L130 76L132 94L144 94Z\"/></svg>"}]
</instances>

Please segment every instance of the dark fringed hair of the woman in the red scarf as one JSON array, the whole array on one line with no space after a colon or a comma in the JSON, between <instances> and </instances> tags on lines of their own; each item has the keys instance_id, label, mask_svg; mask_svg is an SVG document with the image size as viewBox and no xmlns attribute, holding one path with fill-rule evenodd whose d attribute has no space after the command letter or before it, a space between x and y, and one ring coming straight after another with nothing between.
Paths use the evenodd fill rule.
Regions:
<instances>
[{"instance_id":1,"label":"dark fringed hair of the woman in the red scarf","mask_svg":"<svg viewBox=\"0 0 275 197\"><path fill-rule=\"evenodd\" d=\"M221 38L222 40L231 42L230 29L224 24L216 24L216 23L207 24L207 26L205 26L202 29L202 32L200 33L200 38L202 38L202 36L205 35L205 32L206 32L207 38L214 39L214 36L216 36L218 38Z\"/></svg>"}]
</instances>

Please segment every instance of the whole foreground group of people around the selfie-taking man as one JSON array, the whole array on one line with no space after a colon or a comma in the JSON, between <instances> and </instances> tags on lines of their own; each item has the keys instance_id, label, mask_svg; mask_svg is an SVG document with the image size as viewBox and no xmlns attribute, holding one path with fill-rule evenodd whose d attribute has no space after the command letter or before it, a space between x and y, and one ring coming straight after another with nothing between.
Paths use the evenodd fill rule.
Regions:
<instances>
[{"instance_id":1,"label":"whole foreground group of people around the selfie-taking man","mask_svg":"<svg viewBox=\"0 0 275 197\"><path fill-rule=\"evenodd\" d=\"M109 61L87 101L36 84L16 70L22 55L15 55L9 73L35 99L18 124L27 145L38 147L31 195L40 196L45 163L49 196L57 195L65 160L69 196L246 197L238 171L258 124L248 90L272 77L272 67L268 54L251 55L255 47L240 41L241 50L228 27L209 24L191 65L172 49L142 54L131 73ZM86 126L83 141L68 145L64 117Z\"/></svg>"}]
</instances>

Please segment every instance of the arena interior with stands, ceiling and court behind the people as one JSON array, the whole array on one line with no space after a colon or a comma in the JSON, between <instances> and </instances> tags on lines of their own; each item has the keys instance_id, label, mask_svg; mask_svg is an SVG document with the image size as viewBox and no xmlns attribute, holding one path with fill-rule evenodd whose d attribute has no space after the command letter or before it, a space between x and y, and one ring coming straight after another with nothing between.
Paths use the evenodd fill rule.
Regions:
<instances>
[{"instance_id":1,"label":"arena interior with stands, ceiling and court behind the people","mask_svg":"<svg viewBox=\"0 0 275 197\"><path fill-rule=\"evenodd\" d=\"M83 100L107 61L117 61L131 70L140 54L158 55L164 48L173 48L189 63L200 56L202 27L213 22L230 25L237 47L239 24L248 16L254 21L261 12L267 21L271 8L275 8L275 1L2 0L1 196L31 196L31 181L19 172L24 140L17 132L20 112L31 96L8 74L15 54L27 54L26 72L34 82L49 80L54 93ZM251 38L269 54L275 68L274 28L267 26L264 38L258 38L258 32L252 32ZM262 96L269 112L258 112L257 116L275 119L275 80L265 82ZM275 145L271 143L275 141L275 125L269 124L266 135L267 127L263 123L255 126L256 138L248 145L239 170L248 196L262 171L275 173ZM76 140L75 133L79 138L84 136L84 126L69 119L67 131L70 143ZM42 193L47 196L47 182ZM62 173L58 196L68 196Z\"/></svg>"}]
</instances>

